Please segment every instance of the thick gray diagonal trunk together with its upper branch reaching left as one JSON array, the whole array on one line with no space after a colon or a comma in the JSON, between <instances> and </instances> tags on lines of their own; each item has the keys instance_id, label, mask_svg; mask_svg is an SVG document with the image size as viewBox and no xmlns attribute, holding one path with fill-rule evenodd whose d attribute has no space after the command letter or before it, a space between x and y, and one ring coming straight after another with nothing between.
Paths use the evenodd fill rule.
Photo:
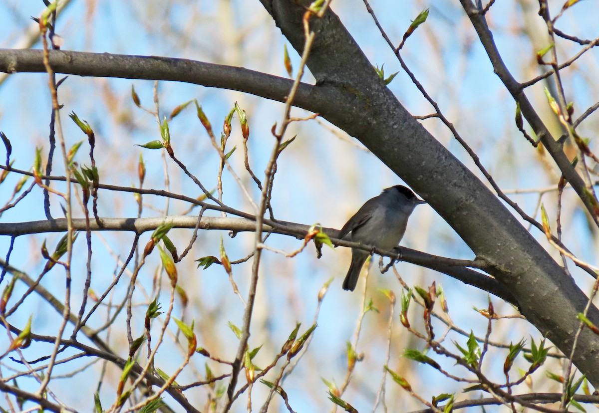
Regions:
<instances>
[{"instance_id":1,"label":"thick gray diagonal trunk together with its upper branch reaching left","mask_svg":"<svg viewBox=\"0 0 599 413\"><path fill-rule=\"evenodd\" d=\"M302 4L307 2L261 2L301 53ZM576 316L588 302L585 294L497 196L398 102L332 11L322 19L311 19L310 28L316 32L316 41L307 64L317 82L316 86L301 84L294 105L319 113L355 136L406 181L476 257L488 263L486 271L507 287L521 313L569 355L579 328ZM277 101L285 101L292 84L288 79L243 68L164 57L50 51L49 60L62 74L184 81ZM41 51L0 50L0 71L44 72ZM570 165L563 153L553 152L552 156L580 190L580 177L570 176L573 169L567 171ZM589 203L588 199L583 202ZM591 307L588 318L599 325L597 308ZM583 329L573 361L595 387L599 386L598 350L597 336Z\"/></svg>"}]
</instances>

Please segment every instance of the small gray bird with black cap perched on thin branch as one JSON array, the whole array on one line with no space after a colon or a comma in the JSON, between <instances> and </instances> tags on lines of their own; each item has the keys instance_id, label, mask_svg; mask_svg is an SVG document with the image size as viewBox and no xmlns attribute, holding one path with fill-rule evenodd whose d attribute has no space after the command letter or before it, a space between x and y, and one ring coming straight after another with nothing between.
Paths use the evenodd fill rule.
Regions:
<instances>
[{"instance_id":1,"label":"small gray bird with black cap perched on thin branch","mask_svg":"<svg viewBox=\"0 0 599 413\"><path fill-rule=\"evenodd\" d=\"M387 188L379 196L368 199L349 218L338 238L391 250L400 243L410 214L420 204L426 204L426 201L416 198L409 188L401 185ZM356 288L360 271L369 255L367 251L352 248L352 264L343 280L344 290L353 291Z\"/></svg>"}]
</instances>

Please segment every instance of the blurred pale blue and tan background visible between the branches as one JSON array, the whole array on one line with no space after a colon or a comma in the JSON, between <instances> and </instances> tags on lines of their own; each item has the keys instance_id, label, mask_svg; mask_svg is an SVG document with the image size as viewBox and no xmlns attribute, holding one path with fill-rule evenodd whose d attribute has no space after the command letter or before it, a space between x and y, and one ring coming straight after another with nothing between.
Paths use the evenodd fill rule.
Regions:
<instances>
[{"instance_id":1,"label":"blurred pale blue and tan background visible between the branches","mask_svg":"<svg viewBox=\"0 0 599 413\"><path fill-rule=\"evenodd\" d=\"M549 4L555 15L561 4L555 1L550 1ZM513 122L515 104L493 74L488 57L477 42L476 35L459 4L449 1L438 1L434 4L422 1L373 1L371 6L389 37L395 41L401 39L410 20L424 8L430 7L429 19L407 41L403 56L410 69L438 102L443 113L455 124L462 137L473 147L502 189L507 192L516 189L543 189L555 183L552 167L547 167L543 157L531 148L516 129ZM386 74L399 71L389 87L410 113L418 116L431 113L431 107L405 72L401 71L391 49L385 44L373 20L366 13L364 4L357 0L334 1L332 7L373 65L380 67L384 64ZM541 21L534 10L527 11L526 7L526 2L497 2L488 17L498 48L518 80L541 73L534 59L534 53L540 48L536 42L543 45L541 47L546 45L543 43L546 29L540 25ZM0 5L0 47L14 47L26 28L31 25L30 16L38 16L42 8L41 1L3 2ZM580 2L559 20L559 28L580 38L594 38L597 36L597 28L592 16L596 15L596 2ZM75 0L59 16L57 33L65 40L63 50L181 57L243 66L286 77L283 66L285 39L257 1ZM570 44L559 42L558 45L562 46L559 48L562 60L578 50ZM40 43L37 42L34 48L40 48ZM295 71L299 57L291 48L290 52ZM574 101L577 114L597 101L597 87L592 83L597 73L597 63L597 55L589 54L564 75L567 98ZM304 81L311 83L313 78L308 73ZM152 81L69 76L59 90L59 100L64 105L60 116L67 146L85 138L66 116L74 111L93 127L97 142L96 157L103 183L137 185L137 159L139 154L143 153L147 167L144 187L166 189L165 169L160 151L142 150L135 146L159 139L159 129L153 116L135 107L131 99L132 86L135 87L142 104L152 108ZM527 93L550 124L546 101L543 100L543 86L534 86ZM198 99L215 129L220 126L237 101L240 107L247 111L251 127L250 162L256 174L262 177L273 144L270 129L275 122L282 119L282 104L238 92L182 83L161 82L158 91L161 116L168 115L174 107L183 102ZM50 107L46 74L11 75L0 84L0 130L11 140L11 159L15 160L16 168L31 168L35 147L38 145L43 146L44 154L47 154ZM308 113L299 109L292 112L292 116L307 115ZM240 143L237 118L234 122L229 149ZM579 132L583 136L592 137L594 130L599 126L597 123L597 116L591 116L582 124ZM423 124L475 174L481 175L475 170L467 153L459 147L440 122L425 120ZM192 107L177 116L171 122L170 129L177 156L193 174L206 183L207 187L213 187L216 182L217 157ZM341 139L331 130L336 129L325 120L320 123L296 123L289 129L287 138L297 135L297 139L280 157L273 190L273 209L277 218L340 228L367 199L378 195L385 187L402 183L401 179L382 165L373 154L365 151L358 141L350 137ZM77 159L80 163L87 162L89 165L86 152L84 144ZM256 199L258 190L252 185L247 174L244 174L243 158L240 155L241 147L238 147L237 153L231 157L231 162L236 171L243 176L244 183ZM56 175L63 174L60 165L60 158L56 157ZM172 192L194 197L199 195L198 189L189 178L177 170L176 165L170 163L168 172ZM18 179L19 177L9 175L7 181L0 186L0 199L10 198ZM226 204L251 212L237 184L226 172L223 174L223 187ZM17 208L4 212L0 222L45 219L41 199L41 190L35 189ZM528 214L539 218L538 193L515 195L513 199ZM544 195L543 202L550 216L555 217L555 196ZM144 216L164 214L164 199L144 197L144 203ZM168 212L181 214L186 209L187 205L171 202ZM137 204L129 194L104 191L100 193L99 211L104 217L135 217ZM62 216L58 198L53 198L52 213L55 217ZM214 215L214 212L210 214ZM565 194L563 214L564 226L568 229L564 233L565 244L576 251L581 259L594 263L597 253L596 233L589 229L585 213L569 193ZM540 242L544 242L542 233L536 230L532 230L531 233ZM189 230L174 230L173 234L177 240L177 247L183 250L189 241ZM53 248L60 236L61 234L48 234L17 238L11 263L35 277L44 266L38 253L41 242L46 238L47 244ZM181 283L190 296L190 305L184 310L184 317L187 320L195 319L195 331L200 345L217 348L219 353L222 352L219 356L227 358L237 348L237 342L227 323L231 321L240 326L243 308L240 300L232 294L231 284L221 267L212 266L202 270L196 269L193 263L193 260L199 257L218 256L221 237L231 259L244 257L250 252L252 234L239 234L235 238L229 238L226 233L209 231L199 234L191 253L178 268ZM74 267L81 271L74 278L74 301L77 302L77 306L81 299L77 294L81 294L86 260L83 236L80 238L74 250ZM149 234L144 235L141 245L144 245L148 238ZM95 291L103 291L110 284L114 272L119 267L118 259L123 259L128 254L132 239L132 235L121 233L101 233L93 236L92 288ZM8 237L0 238L0 256L5 255L8 241ZM464 242L428 205L416 209L401 244L426 253L456 259L473 258ZM292 251L298 248L299 241L273 235L269 239L269 245ZM334 277L320 310L319 327L314 333L311 351L306 354L305 363L299 364L296 374L291 375L284 386L292 406L298 412L320 411L323 405L330 408L326 400L326 385L320 378L337 383L343 379L346 369L346 342L352 339L356 320L361 312L361 293L347 293L341 290L341 281L348 265L349 251L346 248L325 248L320 260L316 259L311 246L294 259L275 253L264 254L264 270L261 274L255 314L256 330L250 339L252 348L268 341L261 353L274 351L276 354L277 346L280 347L285 341L296 321L302 323L301 332L310 326L316 311L317 293L326 281ZM144 287L149 296L152 295L153 271L157 266L158 256L150 257L141 277L140 287ZM445 275L407 263L398 264L397 269L410 286L428 286L433 280L442 284L447 293L453 321L466 331L473 329L478 333L484 333L486 320L477 315L473 307L486 306L488 296L485 293L464 286ZM235 281L244 294L249 281L250 263L235 267L234 274ZM590 280L585 275L573 270L573 276L583 289L589 286ZM63 294L62 277L63 274L55 269L44 277L42 284L60 297ZM116 287L117 297L119 294L122 296L126 290L126 283L127 280ZM371 269L368 283L366 296L368 299L372 297L380 312L370 312L365 316L359 347L359 350L365 353L365 360L356 368L355 378L344 396L359 411L372 409L382 376L384 334L389 306L380 289L392 289L398 296L401 293L400 284L394 276L391 273L380 275L376 264ZM0 288L3 289L4 284L0 285ZM363 289L362 283L359 286ZM19 288L19 291L23 291L22 286ZM495 301L496 308L505 311L506 314L513 313L509 306L502 306L498 300ZM143 293L140 292L137 302L146 302ZM31 296L25 305L26 308L17 312L11 320L14 324L22 326L29 314L34 314L35 333L51 334L56 331L56 314L42 300ZM145 307L140 308L140 312L136 313L138 316L143 314ZM390 365L406 369L402 373L420 381L412 384L415 387L420 384L422 393L428 398L441 392L459 391L461 385L440 375L432 375L431 368L418 368L401 360L403 348L422 348L422 343L405 336L406 333L398 322L399 306L396 306L395 310L395 332L392 342L394 355ZM177 303L175 317L183 314L181 311L183 309ZM93 326L99 326L103 322L101 314L90 319ZM117 318L117 324L122 328L124 318ZM536 338L539 336L538 332L534 329L531 331L531 327L525 322L502 320L497 324L498 330L503 329L498 336L499 341L516 342L521 338L528 339L530 335ZM134 336L141 334L142 327L143 323L135 325ZM438 327L442 331L441 326ZM460 338L456 335L453 339ZM0 338L0 348L5 348L7 342L3 335ZM126 341L123 337L116 334L110 342L115 349L124 348L119 353L126 353ZM168 345L165 349L159 352L157 365L168 366L165 370L169 367L174 370L174 366L180 362L180 355L174 350L169 351ZM47 350L48 348L36 347L24 351L24 354L29 359L35 359ZM256 362L258 365L268 363L268 356L265 355L264 359L260 357ZM195 360L196 368L201 372L204 371L204 362L205 360L199 360L199 357ZM503 363L503 359L498 358L496 362ZM5 368L10 368L11 362L7 359L2 360L2 363ZM318 368L314 369L313 366ZM58 373L61 369L63 368L57 369ZM71 369L64 368L63 372ZM57 382L53 390L62 394L65 399L68 398L66 394L71 393L74 399L69 400L74 400L73 404L81 411L89 411L98 371L99 365L90 366L74 378L65 378L62 382ZM93 377L89 382L80 379L88 374L89 377ZM192 376L191 373L189 376L186 374L184 372L178 381L186 382L186 379ZM429 375L434 377L434 385L429 385ZM501 376L497 379L501 379ZM305 390L306 381L310 382L311 391ZM539 381L542 381L542 378ZM23 379L22 385L28 387L32 383ZM388 397L395 408L406 411L418 408L419 405L414 404L406 393L394 386L392 382L387 384ZM72 394L73 389L80 391ZM256 400L259 400L260 395L264 394L264 388L257 386L255 392ZM204 400L202 390L195 393L192 390L190 393L191 399ZM107 403L111 403L114 391L110 385L105 385L101 395ZM3 403L5 400L0 400L0 406L6 408ZM235 405L237 411L241 411L243 405L240 400L238 405ZM285 406L280 406L280 409L285 411ZM487 411L492 411L492 408Z\"/></svg>"}]
</instances>

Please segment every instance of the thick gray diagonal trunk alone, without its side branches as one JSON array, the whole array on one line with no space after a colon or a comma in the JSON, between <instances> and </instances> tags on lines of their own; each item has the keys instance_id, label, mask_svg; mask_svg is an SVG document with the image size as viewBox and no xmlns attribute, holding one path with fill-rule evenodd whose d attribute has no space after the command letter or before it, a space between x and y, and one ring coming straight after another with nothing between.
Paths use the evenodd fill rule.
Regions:
<instances>
[{"instance_id":1,"label":"thick gray diagonal trunk alone, without its side branches","mask_svg":"<svg viewBox=\"0 0 599 413\"><path fill-rule=\"evenodd\" d=\"M261 1L301 53L304 9L288 0ZM585 294L497 196L413 119L332 11L311 19L310 28L316 40L308 68L316 86L334 90L336 99L308 109L355 136L406 181L489 263L489 274L507 286L521 313L570 354L579 328L576 316L588 302ZM597 308L592 306L588 318L599 322ZM573 361L595 386L598 350L597 336L583 329Z\"/></svg>"}]
</instances>

